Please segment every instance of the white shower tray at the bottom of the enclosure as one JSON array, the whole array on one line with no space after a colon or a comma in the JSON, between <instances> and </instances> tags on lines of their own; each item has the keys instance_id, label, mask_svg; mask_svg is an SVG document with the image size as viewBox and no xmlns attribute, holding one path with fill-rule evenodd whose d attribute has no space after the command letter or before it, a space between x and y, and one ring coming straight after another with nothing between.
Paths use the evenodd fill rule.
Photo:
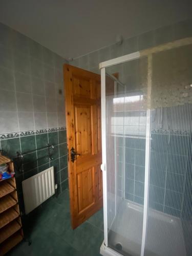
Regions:
<instances>
[{"instance_id":1,"label":"white shower tray at the bottom of the enclosure","mask_svg":"<svg viewBox=\"0 0 192 256\"><path fill-rule=\"evenodd\" d=\"M139 256L142 241L143 209L141 206L124 200L108 234L109 250L102 244L103 256ZM116 244L122 250L116 249ZM115 251L114 251L115 250ZM115 254L111 254L112 251ZM118 252L118 253L116 253ZM148 210L147 234L145 240L146 256L186 256L181 221L160 211Z\"/></svg>"}]
</instances>

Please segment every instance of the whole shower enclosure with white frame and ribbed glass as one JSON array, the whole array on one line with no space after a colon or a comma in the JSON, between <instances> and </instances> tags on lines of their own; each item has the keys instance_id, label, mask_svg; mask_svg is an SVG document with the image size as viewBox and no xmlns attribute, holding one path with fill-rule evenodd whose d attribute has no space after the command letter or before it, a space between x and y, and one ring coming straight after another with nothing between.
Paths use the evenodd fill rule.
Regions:
<instances>
[{"instance_id":1,"label":"whole shower enclosure with white frame and ribbed glass","mask_svg":"<svg viewBox=\"0 0 192 256\"><path fill-rule=\"evenodd\" d=\"M102 255L192 255L191 56L185 38L100 63Z\"/></svg>"}]
</instances>

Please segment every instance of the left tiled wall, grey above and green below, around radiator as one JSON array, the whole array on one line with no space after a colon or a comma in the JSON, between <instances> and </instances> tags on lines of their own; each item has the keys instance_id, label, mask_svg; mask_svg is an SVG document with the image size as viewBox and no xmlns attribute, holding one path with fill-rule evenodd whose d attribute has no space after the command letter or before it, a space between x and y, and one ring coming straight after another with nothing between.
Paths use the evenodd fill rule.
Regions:
<instances>
[{"instance_id":1,"label":"left tiled wall, grey above and green below, around radiator","mask_svg":"<svg viewBox=\"0 0 192 256\"><path fill-rule=\"evenodd\" d=\"M54 145L52 161L47 157L48 150L35 151L24 156L24 172L16 170L22 210L22 180L54 166L58 192L68 186L62 73L66 62L0 24L0 149L14 158L17 151L24 153L48 143Z\"/></svg>"}]
</instances>

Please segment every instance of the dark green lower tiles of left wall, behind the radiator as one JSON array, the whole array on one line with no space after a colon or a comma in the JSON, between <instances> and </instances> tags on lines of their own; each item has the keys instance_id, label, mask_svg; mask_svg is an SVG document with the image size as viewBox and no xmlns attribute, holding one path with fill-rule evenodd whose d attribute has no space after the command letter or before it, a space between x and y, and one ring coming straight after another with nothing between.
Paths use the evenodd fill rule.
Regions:
<instances>
[{"instance_id":1,"label":"dark green lower tiles of left wall, behind the radiator","mask_svg":"<svg viewBox=\"0 0 192 256\"><path fill-rule=\"evenodd\" d=\"M44 131L40 134L20 136L11 139L2 139L1 145L3 154L13 158L16 152L33 151L35 148L44 147L48 143L53 145L50 148L51 159L49 160L48 149L33 151L24 155L23 164L20 159L13 159L15 166L15 179L17 184L17 193L19 197L20 209L24 212L22 181L31 176L42 172L51 166L54 166L55 183L57 184L57 193L68 188L68 168L67 168L67 139L66 130L54 129L54 131ZM20 168L19 168L20 167Z\"/></svg>"}]
</instances>

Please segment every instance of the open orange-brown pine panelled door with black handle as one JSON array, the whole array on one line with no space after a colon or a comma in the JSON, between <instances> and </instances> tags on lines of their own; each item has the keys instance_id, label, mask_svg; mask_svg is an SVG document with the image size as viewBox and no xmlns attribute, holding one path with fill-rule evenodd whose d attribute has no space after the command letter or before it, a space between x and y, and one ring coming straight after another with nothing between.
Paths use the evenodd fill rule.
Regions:
<instances>
[{"instance_id":1,"label":"open orange-brown pine panelled door with black handle","mask_svg":"<svg viewBox=\"0 0 192 256\"><path fill-rule=\"evenodd\" d=\"M100 75L64 65L68 177L72 228L86 221L102 206L101 78ZM77 154L74 162L71 150Z\"/></svg>"}]
</instances>

